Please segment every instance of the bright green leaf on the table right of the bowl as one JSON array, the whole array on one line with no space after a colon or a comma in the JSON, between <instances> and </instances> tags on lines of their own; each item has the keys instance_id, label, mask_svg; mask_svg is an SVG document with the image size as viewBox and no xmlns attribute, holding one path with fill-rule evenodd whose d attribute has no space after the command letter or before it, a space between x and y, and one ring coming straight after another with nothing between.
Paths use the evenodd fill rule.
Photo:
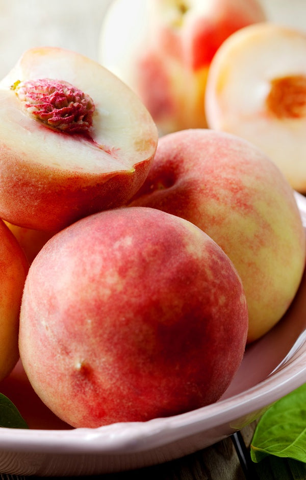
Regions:
<instances>
[{"instance_id":1,"label":"bright green leaf on the table right of the bowl","mask_svg":"<svg viewBox=\"0 0 306 480\"><path fill-rule=\"evenodd\" d=\"M267 455L306 463L306 383L277 400L263 414L251 442L251 459Z\"/></svg>"}]
</instances>

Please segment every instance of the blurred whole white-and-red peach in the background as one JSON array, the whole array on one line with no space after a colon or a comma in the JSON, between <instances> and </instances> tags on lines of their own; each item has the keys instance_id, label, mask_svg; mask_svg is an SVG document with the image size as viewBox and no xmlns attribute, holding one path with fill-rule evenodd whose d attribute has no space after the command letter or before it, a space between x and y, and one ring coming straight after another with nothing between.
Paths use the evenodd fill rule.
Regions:
<instances>
[{"instance_id":1,"label":"blurred whole white-and-red peach in the background","mask_svg":"<svg viewBox=\"0 0 306 480\"><path fill-rule=\"evenodd\" d=\"M205 127L214 54L233 32L265 19L257 0L115 0L99 61L140 95L160 134Z\"/></svg>"}]
</instances>

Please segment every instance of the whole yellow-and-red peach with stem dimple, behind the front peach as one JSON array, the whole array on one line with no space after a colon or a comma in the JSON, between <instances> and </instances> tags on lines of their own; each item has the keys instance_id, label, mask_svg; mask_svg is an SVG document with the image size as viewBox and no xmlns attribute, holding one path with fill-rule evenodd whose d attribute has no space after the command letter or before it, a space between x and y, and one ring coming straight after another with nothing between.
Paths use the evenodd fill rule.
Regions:
<instances>
[{"instance_id":1,"label":"whole yellow-and-red peach with stem dimple, behind the front peach","mask_svg":"<svg viewBox=\"0 0 306 480\"><path fill-rule=\"evenodd\" d=\"M242 279L248 342L283 316L304 269L305 235L292 188L251 143L205 129L160 138L131 205L179 215L220 245Z\"/></svg>"}]
</instances>

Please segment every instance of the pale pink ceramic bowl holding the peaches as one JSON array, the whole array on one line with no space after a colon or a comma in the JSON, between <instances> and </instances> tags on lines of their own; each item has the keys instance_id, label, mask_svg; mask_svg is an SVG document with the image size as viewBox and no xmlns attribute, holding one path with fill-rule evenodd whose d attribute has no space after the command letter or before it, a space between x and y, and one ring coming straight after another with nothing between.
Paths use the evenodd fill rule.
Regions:
<instances>
[{"instance_id":1,"label":"pale pink ceramic bowl holding the peaches","mask_svg":"<svg viewBox=\"0 0 306 480\"><path fill-rule=\"evenodd\" d=\"M306 228L306 199L296 194ZM34 394L22 367L0 385L30 425L0 428L0 472L90 475L166 462L212 445L258 418L306 382L306 274L285 317L247 349L222 398L192 412L148 422L72 429Z\"/></svg>"}]
</instances>

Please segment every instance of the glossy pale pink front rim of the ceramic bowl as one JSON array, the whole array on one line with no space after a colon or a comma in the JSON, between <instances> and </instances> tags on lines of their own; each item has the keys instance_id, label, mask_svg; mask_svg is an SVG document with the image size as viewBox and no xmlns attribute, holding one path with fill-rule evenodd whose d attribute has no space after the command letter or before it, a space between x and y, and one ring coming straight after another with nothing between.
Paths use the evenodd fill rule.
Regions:
<instances>
[{"instance_id":1,"label":"glossy pale pink front rim of the ceramic bowl","mask_svg":"<svg viewBox=\"0 0 306 480\"><path fill-rule=\"evenodd\" d=\"M171 417L98 428L0 429L2 450L122 454L161 447L259 412L306 382L306 342L279 370L257 385L213 404ZM238 430L239 428L237 428ZM233 428L235 431L235 428Z\"/></svg>"}]
</instances>

